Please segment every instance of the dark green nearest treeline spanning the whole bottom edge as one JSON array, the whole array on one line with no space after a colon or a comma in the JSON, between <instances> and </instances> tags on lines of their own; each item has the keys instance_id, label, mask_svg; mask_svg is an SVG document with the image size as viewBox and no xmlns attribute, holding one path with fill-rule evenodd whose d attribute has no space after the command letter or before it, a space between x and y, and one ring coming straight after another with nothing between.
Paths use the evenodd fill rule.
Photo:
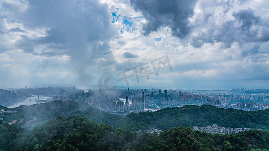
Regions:
<instances>
[{"instance_id":1,"label":"dark green nearest treeline spanning the whole bottom edge","mask_svg":"<svg viewBox=\"0 0 269 151\"><path fill-rule=\"evenodd\" d=\"M210 134L187 127L171 128L159 135L99 124L81 116L59 116L32 132L0 121L0 150L266 150L269 132L250 130L235 134Z\"/></svg>"}]
</instances>

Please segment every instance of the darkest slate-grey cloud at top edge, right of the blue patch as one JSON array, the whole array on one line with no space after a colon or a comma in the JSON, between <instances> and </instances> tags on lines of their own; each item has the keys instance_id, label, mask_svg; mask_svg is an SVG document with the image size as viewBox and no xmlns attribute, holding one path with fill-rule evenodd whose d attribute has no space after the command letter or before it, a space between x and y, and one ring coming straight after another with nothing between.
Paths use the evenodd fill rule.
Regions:
<instances>
[{"instance_id":1,"label":"darkest slate-grey cloud at top edge, right of the blue patch","mask_svg":"<svg viewBox=\"0 0 269 151\"><path fill-rule=\"evenodd\" d=\"M173 36L184 38L191 32L189 17L193 16L196 0L130 0L132 7L147 20L143 24L144 35L161 27L170 27Z\"/></svg>"}]
</instances>

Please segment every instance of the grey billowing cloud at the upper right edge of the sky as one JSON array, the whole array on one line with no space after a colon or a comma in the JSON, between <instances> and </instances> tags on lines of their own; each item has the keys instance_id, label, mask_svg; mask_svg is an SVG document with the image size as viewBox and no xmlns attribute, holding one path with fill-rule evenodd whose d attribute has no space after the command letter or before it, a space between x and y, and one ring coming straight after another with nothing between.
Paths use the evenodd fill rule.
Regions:
<instances>
[{"instance_id":1,"label":"grey billowing cloud at the upper right edge of the sky","mask_svg":"<svg viewBox=\"0 0 269 151\"><path fill-rule=\"evenodd\" d=\"M234 12L233 17L234 20L224 22L221 26L213 25L207 31L198 32L198 35L192 37L191 44L201 47L204 43L222 42L224 48L230 48L233 42L243 45L246 42L269 40L269 25L253 10Z\"/></svg>"}]
</instances>

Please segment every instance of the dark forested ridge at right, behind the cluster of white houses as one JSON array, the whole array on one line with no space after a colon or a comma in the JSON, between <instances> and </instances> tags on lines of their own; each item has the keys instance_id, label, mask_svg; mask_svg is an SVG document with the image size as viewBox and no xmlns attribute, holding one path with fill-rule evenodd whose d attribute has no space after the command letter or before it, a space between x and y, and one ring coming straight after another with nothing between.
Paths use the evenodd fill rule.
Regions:
<instances>
[{"instance_id":1,"label":"dark forested ridge at right, behind the cluster of white houses","mask_svg":"<svg viewBox=\"0 0 269 151\"><path fill-rule=\"evenodd\" d=\"M246 112L223 109L209 105L186 105L181 108L165 108L155 112L128 114L116 127L130 131L149 128L169 129L179 126L210 126L269 129L269 110Z\"/></svg>"}]
</instances>

